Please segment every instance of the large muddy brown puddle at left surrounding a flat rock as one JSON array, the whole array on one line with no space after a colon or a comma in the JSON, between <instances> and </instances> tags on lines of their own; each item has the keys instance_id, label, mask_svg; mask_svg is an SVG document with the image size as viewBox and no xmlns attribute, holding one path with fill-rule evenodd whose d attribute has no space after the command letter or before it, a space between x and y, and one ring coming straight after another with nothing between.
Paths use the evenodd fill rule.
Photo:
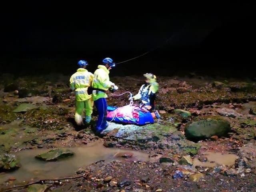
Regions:
<instances>
[{"instance_id":1,"label":"large muddy brown puddle at left surrounding a flat rock","mask_svg":"<svg viewBox=\"0 0 256 192\"><path fill-rule=\"evenodd\" d=\"M56 162L45 162L35 158L36 155L48 152L50 149L24 150L15 153L20 158L21 167L13 172L0 173L0 183L8 180L11 176L16 178L16 181L64 178L72 176L78 168L87 166L99 160L110 162L112 160L121 161L147 161L148 154L145 152L133 150L120 150L117 148L106 148L102 142L88 144L82 147L69 148L75 154L68 158L58 160ZM116 152L131 152L131 158L114 157Z\"/></svg>"}]
</instances>

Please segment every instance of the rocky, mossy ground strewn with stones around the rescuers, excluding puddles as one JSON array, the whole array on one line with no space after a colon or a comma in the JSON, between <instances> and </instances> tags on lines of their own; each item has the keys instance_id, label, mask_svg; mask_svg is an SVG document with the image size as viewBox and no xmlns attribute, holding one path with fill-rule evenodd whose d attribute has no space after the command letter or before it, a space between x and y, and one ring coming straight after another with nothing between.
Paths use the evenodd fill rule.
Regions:
<instances>
[{"instance_id":1,"label":"rocky, mossy ground strewn with stones around the rescuers, excluding puddles","mask_svg":"<svg viewBox=\"0 0 256 192\"><path fill-rule=\"evenodd\" d=\"M0 172L19 168L15 152L36 148L84 146L102 140L104 146L147 152L149 161L97 161L69 179L16 182L2 191L255 191L256 82L196 76L159 76L156 109L161 119L145 126L110 122L99 138L89 126L74 123L74 93L68 76L0 78ZM136 94L140 76L112 77L114 94ZM110 106L128 104L129 93L109 93ZM136 103L136 102L135 102ZM234 154L231 164L210 162L206 152ZM22 166L22 165L21 165ZM25 186L22 186L25 185ZM18 186L18 187L17 187ZM15 188L12 188L15 187Z\"/></svg>"}]
</instances>

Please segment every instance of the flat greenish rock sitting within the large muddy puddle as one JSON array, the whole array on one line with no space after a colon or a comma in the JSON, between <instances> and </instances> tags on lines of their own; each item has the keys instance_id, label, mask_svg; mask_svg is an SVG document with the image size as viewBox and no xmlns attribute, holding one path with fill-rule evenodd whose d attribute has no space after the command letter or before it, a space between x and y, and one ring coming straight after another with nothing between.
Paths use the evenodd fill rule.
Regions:
<instances>
[{"instance_id":1,"label":"flat greenish rock sitting within the large muddy puddle","mask_svg":"<svg viewBox=\"0 0 256 192\"><path fill-rule=\"evenodd\" d=\"M74 155L74 152L69 149L53 149L46 153L42 153L36 156L36 158L45 161L56 161L60 158L68 157Z\"/></svg>"}]
</instances>

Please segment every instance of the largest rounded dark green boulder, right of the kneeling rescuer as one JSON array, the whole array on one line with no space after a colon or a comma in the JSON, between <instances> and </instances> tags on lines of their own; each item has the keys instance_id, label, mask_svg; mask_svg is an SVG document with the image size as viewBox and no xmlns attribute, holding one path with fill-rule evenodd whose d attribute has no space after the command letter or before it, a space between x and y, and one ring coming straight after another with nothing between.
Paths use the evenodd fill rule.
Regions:
<instances>
[{"instance_id":1,"label":"largest rounded dark green boulder, right of the kneeling rescuer","mask_svg":"<svg viewBox=\"0 0 256 192\"><path fill-rule=\"evenodd\" d=\"M192 122L185 129L185 136L189 140L199 141L217 135L226 136L230 132L230 123L224 120L200 120Z\"/></svg>"}]
</instances>

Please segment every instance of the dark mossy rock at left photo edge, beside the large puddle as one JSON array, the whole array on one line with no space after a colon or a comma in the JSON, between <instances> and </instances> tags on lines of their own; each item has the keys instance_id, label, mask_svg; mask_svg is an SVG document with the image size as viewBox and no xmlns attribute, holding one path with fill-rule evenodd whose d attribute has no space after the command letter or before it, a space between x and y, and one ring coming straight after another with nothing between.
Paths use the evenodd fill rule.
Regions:
<instances>
[{"instance_id":1,"label":"dark mossy rock at left photo edge, beside the large puddle","mask_svg":"<svg viewBox=\"0 0 256 192\"><path fill-rule=\"evenodd\" d=\"M0 172L20 168L20 160L14 154L0 154Z\"/></svg>"}]
</instances>

